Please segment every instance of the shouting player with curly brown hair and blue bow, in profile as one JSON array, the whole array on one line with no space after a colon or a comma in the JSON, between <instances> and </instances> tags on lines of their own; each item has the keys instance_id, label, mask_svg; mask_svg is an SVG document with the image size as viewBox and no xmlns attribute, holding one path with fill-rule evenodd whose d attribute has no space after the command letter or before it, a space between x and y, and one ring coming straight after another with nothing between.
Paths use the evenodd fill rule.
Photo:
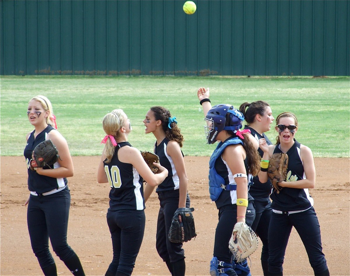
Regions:
<instances>
[{"instance_id":1,"label":"shouting player with curly brown hair and blue bow, in profile","mask_svg":"<svg viewBox=\"0 0 350 276\"><path fill-rule=\"evenodd\" d=\"M145 133L153 133L157 139L154 153L159 156L160 164L169 171L167 178L156 189L160 202L156 233L157 252L172 275L185 275L186 263L182 243L170 242L168 239L169 228L177 208L190 207L187 174L181 151L183 136L177 127L176 118L172 118L169 110L164 107L151 107L143 122L146 127ZM145 200L152 191L153 187L147 183Z\"/></svg>"}]
</instances>

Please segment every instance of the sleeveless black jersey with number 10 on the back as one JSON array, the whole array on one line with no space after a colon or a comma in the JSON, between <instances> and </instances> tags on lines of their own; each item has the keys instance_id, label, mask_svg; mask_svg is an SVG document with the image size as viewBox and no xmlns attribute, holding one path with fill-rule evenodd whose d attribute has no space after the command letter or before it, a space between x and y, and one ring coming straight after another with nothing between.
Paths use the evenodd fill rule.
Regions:
<instances>
[{"instance_id":1,"label":"sleeveless black jersey with number 10 on the back","mask_svg":"<svg viewBox=\"0 0 350 276\"><path fill-rule=\"evenodd\" d=\"M118 159L118 150L124 146L132 147L129 142L118 143L111 162L103 162L107 178L110 184L112 183L108 210L144 210L146 206L142 177L132 164L121 162Z\"/></svg>"}]
</instances>

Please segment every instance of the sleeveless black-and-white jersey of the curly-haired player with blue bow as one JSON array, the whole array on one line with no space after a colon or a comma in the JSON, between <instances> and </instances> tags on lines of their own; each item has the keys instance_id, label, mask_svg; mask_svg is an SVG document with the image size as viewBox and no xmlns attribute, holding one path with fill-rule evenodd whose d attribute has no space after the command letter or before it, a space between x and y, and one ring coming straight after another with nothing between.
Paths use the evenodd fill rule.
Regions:
<instances>
[{"instance_id":1,"label":"sleeveless black-and-white jersey of the curly-haired player with blue bow","mask_svg":"<svg viewBox=\"0 0 350 276\"><path fill-rule=\"evenodd\" d=\"M164 138L159 145L157 145L157 142L155 142L154 145L154 153L159 156L159 163L168 170L168 176L160 185L158 185L156 189L157 193L169 190L178 190L180 187L179 176L177 175L173 159L167 154L167 145L169 141L170 140L167 138Z\"/></svg>"}]
</instances>

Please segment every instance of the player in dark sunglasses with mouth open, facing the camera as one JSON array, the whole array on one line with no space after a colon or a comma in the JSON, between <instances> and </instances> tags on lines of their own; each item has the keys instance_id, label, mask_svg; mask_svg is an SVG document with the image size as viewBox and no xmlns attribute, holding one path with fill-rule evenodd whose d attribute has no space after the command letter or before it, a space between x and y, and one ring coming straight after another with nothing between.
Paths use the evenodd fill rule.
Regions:
<instances>
[{"instance_id":1,"label":"player in dark sunglasses with mouth open, facing the camera","mask_svg":"<svg viewBox=\"0 0 350 276\"><path fill-rule=\"evenodd\" d=\"M315 187L316 172L311 150L295 140L298 121L293 113L284 112L276 118L278 131L276 145L259 140L264 151L259 172L260 182L267 181L266 164L274 153L287 153L286 181L279 182L283 189L271 194L272 215L268 229L268 275L283 275L283 260L292 227L298 232L309 257L314 274L328 276L327 262L322 253L320 224L314 210L314 199L309 190Z\"/></svg>"}]
</instances>

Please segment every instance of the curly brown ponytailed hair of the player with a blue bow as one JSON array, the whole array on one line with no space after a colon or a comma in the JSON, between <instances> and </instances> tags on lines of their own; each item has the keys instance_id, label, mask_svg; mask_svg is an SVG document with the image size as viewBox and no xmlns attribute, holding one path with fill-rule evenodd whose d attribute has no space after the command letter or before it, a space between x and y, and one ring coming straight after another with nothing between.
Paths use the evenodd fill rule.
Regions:
<instances>
[{"instance_id":1,"label":"curly brown ponytailed hair of the player with a blue bow","mask_svg":"<svg viewBox=\"0 0 350 276\"><path fill-rule=\"evenodd\" d=\"M182 142L184 141L182 134L180 133L181 129L177 127L177 124L175 122L170 123L169 125L169 118L172 117L170 114L170 111L162 106L153 106L151 107L151 110L154 113L154 118L156 120L162 121L162 129L165 132L165 136L170 141L176 141L180 147L182 147Z\"/></svg>"}]
</instances>

